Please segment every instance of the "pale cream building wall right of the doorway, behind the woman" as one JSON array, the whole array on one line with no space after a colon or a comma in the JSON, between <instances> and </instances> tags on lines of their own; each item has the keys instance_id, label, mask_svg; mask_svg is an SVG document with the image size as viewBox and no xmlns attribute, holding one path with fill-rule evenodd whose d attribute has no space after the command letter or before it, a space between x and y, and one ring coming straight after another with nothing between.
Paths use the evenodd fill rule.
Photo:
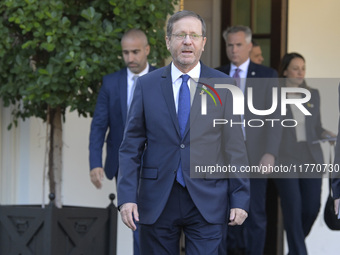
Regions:
<instances>
[{"instance_id":1,"label":"pale cream building wall right of the doorway, behind the woman","mask_svg":"<svg viewBox=\"0 0 340 255\"><path fill-rule=\"evenodd\" d=\"M288 52L296 51L306 58L306 77L311 78L307 82L320 91L323 126L337 133L340 1L291 0L288 7ZM323 144L323 149L328 162L330 146ZM324 178L320 213L306 239L311 255L338 254L339 233L329 230L323 221L327 195Z\"/></svg>"}]
</instances>

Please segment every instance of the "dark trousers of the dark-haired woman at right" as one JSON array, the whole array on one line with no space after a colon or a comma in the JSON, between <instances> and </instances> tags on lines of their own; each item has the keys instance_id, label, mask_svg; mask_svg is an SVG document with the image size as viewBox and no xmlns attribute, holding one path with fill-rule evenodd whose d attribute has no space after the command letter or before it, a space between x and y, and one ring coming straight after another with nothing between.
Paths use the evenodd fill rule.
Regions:
<instances>
[{"instance_id":1,"label":"dark trousers of the dark-haired woman at right","mask_svg":"<svg viewBox=\"0 0 340 255\"><path fill-rule=\"evenodd\" d=\"M297 143L302 173L297 172L291 178L275 179L281 198L284 227L287 233L289 255L307 255L305 238L312 229L320 210L322 178L319 173L312 173L304 164L314 164L307 143Z\"/></svg>"}]
</instances>

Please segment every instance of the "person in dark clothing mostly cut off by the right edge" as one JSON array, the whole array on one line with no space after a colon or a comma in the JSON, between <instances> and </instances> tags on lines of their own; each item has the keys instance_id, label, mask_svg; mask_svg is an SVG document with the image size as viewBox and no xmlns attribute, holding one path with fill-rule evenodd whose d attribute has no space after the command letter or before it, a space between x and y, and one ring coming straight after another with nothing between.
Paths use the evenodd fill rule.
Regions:
<instances>
[{"instance_id":1,"label":"person in dark clothing mostly cut off by the right edge","mask_svg":"<svg viewBox=\"0 0 340 255\"><path fill-rule=\"evenodd\" d=\"M339 109L340 109L340 84L339 84ZM335 146L335 157L334 157L334 167L340 167L340 119L338 124L338 137ZM337 166L336 166L337 165ZM334 210L335 214L339 213L340 204L340 173L334 173L332 180L332 191L334 200Z\"/></svg>"}]
</instances>

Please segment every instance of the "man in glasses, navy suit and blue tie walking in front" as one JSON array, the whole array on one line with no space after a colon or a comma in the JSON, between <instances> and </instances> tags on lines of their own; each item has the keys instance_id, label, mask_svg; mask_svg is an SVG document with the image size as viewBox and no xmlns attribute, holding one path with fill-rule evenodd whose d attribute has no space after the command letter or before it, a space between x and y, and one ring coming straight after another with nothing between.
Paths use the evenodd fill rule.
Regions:
<instances>
[{"instance_id":1,"label":"man in glasses, navy suit and blue tie walking in front","mask_svg":"<svg viewBox=\"0 0 340 255\"><path fill-rule=\"evenodd\" d=\"M139 221L141 254L178 254L183 231L186 254L217 255L228 216L230 225L247 217L248 179L209 173L192 178L190 172L196 160L238 170L247 165L240 127L212 125L213 119L239 121L230 91L218 90L225 105L215 107L210 98L201 114L202 78L209 78L205 86L214 86L212 78L232 82L200 63L205 34L196 13L171 16L166 44L173 62L137 81L119 151L118 206L129 228Z\"/></svg>"}]
</instances>

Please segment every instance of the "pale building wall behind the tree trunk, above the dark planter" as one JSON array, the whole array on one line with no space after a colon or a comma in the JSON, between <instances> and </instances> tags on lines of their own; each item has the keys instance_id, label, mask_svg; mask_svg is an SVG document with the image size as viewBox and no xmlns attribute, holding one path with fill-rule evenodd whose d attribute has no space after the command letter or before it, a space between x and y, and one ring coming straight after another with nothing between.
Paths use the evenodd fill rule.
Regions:
<instances>
[{"instance_id":1,"label":"pale building wall behind the tree trunk, above the dark planter","mask_svg":"<svg viewBox=\"0 0 340 255\"><path fill-rule=\"evenodd\" d=\"M47 204L49 187L43 181L46 125L30 118L8 131L10 109L0 110L0 204ZM105 208L110 203L109 194L116 194L116 185L104 180L102 189L97 190L90 182L90 124L90 118L78 117L76 112L66 115L62 200L64 205ZM118 217L117 254L132 254L132 232Z\"/></svg>"}]
</instances>

